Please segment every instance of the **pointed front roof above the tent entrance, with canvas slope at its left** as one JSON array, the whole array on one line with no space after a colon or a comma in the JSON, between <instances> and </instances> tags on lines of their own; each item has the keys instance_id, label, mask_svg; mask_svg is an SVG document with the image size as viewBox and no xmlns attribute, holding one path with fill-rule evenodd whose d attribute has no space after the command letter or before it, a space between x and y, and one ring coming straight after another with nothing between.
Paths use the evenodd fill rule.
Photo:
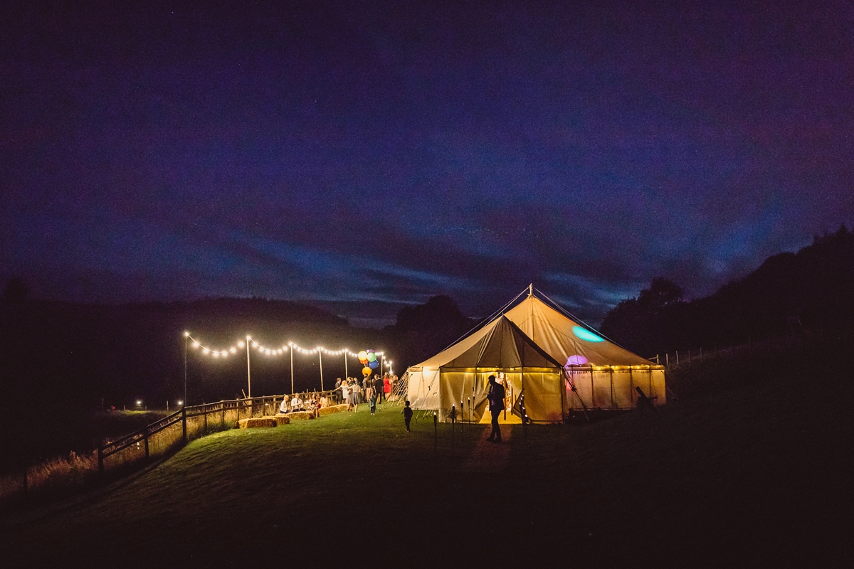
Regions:
<instances>
[{"instance_id":1,"label":"pointed front roof above the tent entrance, with canvas slope at its left","mask_svg":"<svg viewBox=\"0 0 854 569\"><path fill-rule=\"evenodd\" d=\"M561 368L506 316L498 316L473 334L413 366L414 369Z\"/></svg>"}]
</instances>

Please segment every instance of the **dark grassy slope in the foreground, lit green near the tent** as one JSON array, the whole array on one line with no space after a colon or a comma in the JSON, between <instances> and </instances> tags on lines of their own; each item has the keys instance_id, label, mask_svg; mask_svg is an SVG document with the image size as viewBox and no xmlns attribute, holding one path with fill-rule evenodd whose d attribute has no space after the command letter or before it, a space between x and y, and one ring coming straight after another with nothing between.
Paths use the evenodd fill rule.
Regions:
<instances>
[{"instance_id":1,"label":"dark grassy slope in the foreground, lit green near the tent","mask_svg":"<svg viewBox=\"0 0 854 569\"><path fill-rule=\"evenodd\" d=\"M216 433L109 491L4 518L0 559L849 565L854 354L810 353L683 367L658 413L508 426L501 447L458 427L453 456L448 425L435 452L432 421L406 433L395 407Z\"/></svg>"}]
</instances>

